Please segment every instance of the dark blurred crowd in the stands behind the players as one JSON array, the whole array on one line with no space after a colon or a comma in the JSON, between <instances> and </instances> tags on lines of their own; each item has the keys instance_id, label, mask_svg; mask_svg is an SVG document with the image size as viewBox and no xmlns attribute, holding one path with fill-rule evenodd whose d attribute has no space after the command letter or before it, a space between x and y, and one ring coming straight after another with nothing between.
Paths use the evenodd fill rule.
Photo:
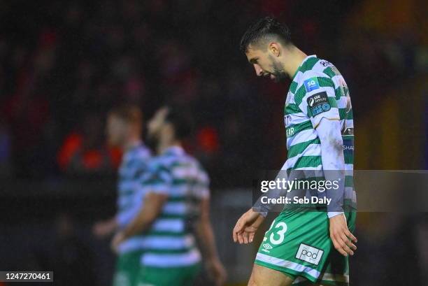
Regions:
<instances>
[{"instance_id":1,"label":"dark blurred crowd in the stands behind the players","mask_svg":"<svg viewBox=\"0 0 428 286\"><path fill-rule=\"evenodd\" d=\"M190 106L187 148L214 184L248 185L252 172L278 169L287 85L256 80L238 51L245 27L266 14L336 64L357 121L369 101L424 71L417 31L389 36L349 20L364 2L296 2L0 1L0 176L113 176L120 150L106 145L104 121L122 103L145 119L165 103Z\"/></svg>"}]
</instances>

